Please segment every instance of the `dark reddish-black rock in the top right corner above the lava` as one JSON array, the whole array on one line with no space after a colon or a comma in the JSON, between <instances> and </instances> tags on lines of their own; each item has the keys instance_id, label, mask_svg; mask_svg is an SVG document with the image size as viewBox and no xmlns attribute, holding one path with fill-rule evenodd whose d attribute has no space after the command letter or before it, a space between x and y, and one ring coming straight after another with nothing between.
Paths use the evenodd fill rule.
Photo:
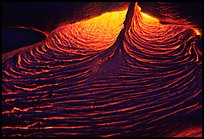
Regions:
<instances>
[{"instance_id":1,"label":"dark reddish-black rock in the top right corner above the lava","mask_svg":"<svg viewBox=\"0 0 204 139\"><path fill-rule=\"evenodd\" d=\"M201 2L138 2L143 12L164 24L192 24L202 28Z\"/></svg>"}]
</instances>

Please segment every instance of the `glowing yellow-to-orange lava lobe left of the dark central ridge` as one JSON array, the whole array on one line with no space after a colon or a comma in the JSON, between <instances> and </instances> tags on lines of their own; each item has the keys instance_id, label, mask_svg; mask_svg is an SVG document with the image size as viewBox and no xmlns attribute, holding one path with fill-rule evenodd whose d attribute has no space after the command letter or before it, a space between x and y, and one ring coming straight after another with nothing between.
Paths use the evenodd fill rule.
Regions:
<instances>
[{"instance_id":1,"label":"glowing yellow-to-orange lava lobe left of the dark central ridge","mask_svg":"<svg viewBox=\"0 0 204 139\"><path fill-rule=\"evenodd\" d=\"M107 12L98 17L57 28L48 36L48 46L68 46L83 49L102 50L110 47L124 27L127 9ZM65 47L65 48L62 48Z\"/></svg>"}]
</instances>

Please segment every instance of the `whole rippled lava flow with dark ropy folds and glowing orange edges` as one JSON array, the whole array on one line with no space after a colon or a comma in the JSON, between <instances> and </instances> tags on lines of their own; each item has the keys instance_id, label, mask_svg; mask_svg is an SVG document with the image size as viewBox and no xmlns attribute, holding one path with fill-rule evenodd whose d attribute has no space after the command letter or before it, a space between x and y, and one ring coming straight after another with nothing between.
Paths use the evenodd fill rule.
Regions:
<instances>
[{"instance_id":1,"label":"whole rippled lava flow with dark ropy folds and glowing orange edges","mask_svg":"<svg viewBox=\"0 0 204 139\"><path fill-rule=\"evenodd\" d=\"M3 54L3 136L202 136L200 36L135 3Z\"/></svg>"}]
</instances>

